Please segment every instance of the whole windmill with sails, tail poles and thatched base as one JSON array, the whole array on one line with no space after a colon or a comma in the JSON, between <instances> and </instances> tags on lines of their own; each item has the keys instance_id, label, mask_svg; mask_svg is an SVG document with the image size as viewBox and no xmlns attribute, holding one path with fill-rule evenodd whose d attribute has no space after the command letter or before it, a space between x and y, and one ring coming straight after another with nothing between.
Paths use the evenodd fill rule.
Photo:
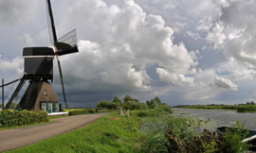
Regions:
<instances>
[{"instance_id":1,"label":"whole windmill with sails, tail poles and thatched base","mask_svg":"<svg viewBox=\"0 0 256 153\"><path fill-rule=\"evenodd\" d=\"M77 46L76 29L68 32L60 39L57 39L56 28L53 20L50 0L46 0L46 16L50 42L54 49L50 47L25 47L23 49L24 73L20 78L15 79L0 87L17 82L6 100L5 109L9 109L11 102L15 99L22 87L29 80L27 90L22 96L16 109L18 110L61 110L59 97L54 92L48 80L53 82L53 59L56 57L59 74L64 94L65 107L68 109L65 93L64 80L59 56L79 52ZM51 112L49 111L49 112Z\"/></svg>"}]
</instances>

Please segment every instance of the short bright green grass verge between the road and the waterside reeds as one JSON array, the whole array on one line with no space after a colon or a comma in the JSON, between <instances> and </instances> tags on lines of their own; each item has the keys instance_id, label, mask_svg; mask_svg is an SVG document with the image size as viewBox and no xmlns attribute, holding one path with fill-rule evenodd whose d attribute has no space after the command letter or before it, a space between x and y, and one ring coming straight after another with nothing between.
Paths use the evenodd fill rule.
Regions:
<instances>
[{"instance_id":1,"label":"short bright green grass verge between the road and the waterside reeds","mask_svg":"<svg viewBox=\"0 0 256 153\"><path fill-rule=\"evenodd\" d=\"M89 126L9 152L140 152L140 144L145 140L139 130L140 124L138 117L113 113L102 116Z\"/></svg>"}]
</instances>

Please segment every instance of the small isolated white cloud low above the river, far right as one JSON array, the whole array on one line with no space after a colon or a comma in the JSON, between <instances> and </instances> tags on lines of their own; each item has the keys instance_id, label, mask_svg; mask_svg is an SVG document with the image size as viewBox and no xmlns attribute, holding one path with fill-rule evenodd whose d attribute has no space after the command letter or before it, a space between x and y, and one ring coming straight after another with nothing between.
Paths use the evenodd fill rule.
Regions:
<instances>
[{"instance_id":1,"label":"small isolated white cloud low above the river, far right","mask_svg":"<svg viewBox=\"0 0 256 153\"><path fill-rule=\"evenodd\" d=\"M230 79L216 76L214 78L214 84L219 88L229 89L232 91L237 91L237 85L234 84Z\"/></svg>"}]
</instances>

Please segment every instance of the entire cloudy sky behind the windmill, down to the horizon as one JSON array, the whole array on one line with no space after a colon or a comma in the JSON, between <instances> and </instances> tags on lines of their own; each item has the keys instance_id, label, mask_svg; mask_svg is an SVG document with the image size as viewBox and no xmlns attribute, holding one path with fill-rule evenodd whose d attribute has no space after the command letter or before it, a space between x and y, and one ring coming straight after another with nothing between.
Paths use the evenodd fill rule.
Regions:
<instances>
[{"instance_id":1,"label":"entire cloudy sky behind the windmill, down to the horizon","mask_svg":"<svg viewBox=\"0 0 256 153\"><path fill-rule=\"evenodd\" d=\"M255 0L53 0L57 37L77 29L80 52L60 57L69 107L126 94L171 106L255 101L255 8ZM46 2L0 0L0 33L0 78L9 82L24 71L24 42L52 46Z\"/></svg>"}]
</instances>

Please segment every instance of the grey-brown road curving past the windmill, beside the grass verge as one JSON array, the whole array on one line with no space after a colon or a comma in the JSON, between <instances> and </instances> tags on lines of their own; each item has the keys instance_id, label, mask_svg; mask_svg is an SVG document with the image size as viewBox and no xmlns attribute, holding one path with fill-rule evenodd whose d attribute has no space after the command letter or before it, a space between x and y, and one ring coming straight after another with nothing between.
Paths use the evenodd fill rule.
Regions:
<instances>
[{"instance_id":1,"label":"grey-brown road curving past the windmill, beside the grass verge","mask_svg":"<svg viewBox=\"0 0 256 153\"><path fill-rule=\"evenodd\" d=\"M64 118L46 125L19 127L15 129L0 130L0 152L34 144L58 134L82 127L97 118L109 113L84 114Z\"/></svg>"}]
</instances>

